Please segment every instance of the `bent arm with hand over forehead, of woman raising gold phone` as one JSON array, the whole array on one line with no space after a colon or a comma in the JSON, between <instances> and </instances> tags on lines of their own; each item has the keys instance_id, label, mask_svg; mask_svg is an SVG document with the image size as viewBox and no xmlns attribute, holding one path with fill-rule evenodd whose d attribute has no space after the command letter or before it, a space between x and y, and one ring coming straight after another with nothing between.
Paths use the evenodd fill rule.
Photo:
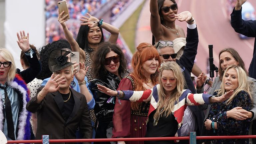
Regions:
<instances>
[{"instance_id":1,"label":"bent arm with hand over forehead, of woman raising gold phone","mask_svg":"<svg viewBox=\"0 0 256 144\"><path fill-rule=\"evenodd\" d=\"M81 21L85 23L81 23L81 25L88 25L89 27L95 27L98 26L99 19L96 17L91 16L89 13L87 13L88 17L82 16L80 19ZM109 37L109 42L112 44L115 44L119 35L119 29L117 27L112 26L111 24L103 22L100 26L111 33Z\"/></svg>"}]
</instances>

